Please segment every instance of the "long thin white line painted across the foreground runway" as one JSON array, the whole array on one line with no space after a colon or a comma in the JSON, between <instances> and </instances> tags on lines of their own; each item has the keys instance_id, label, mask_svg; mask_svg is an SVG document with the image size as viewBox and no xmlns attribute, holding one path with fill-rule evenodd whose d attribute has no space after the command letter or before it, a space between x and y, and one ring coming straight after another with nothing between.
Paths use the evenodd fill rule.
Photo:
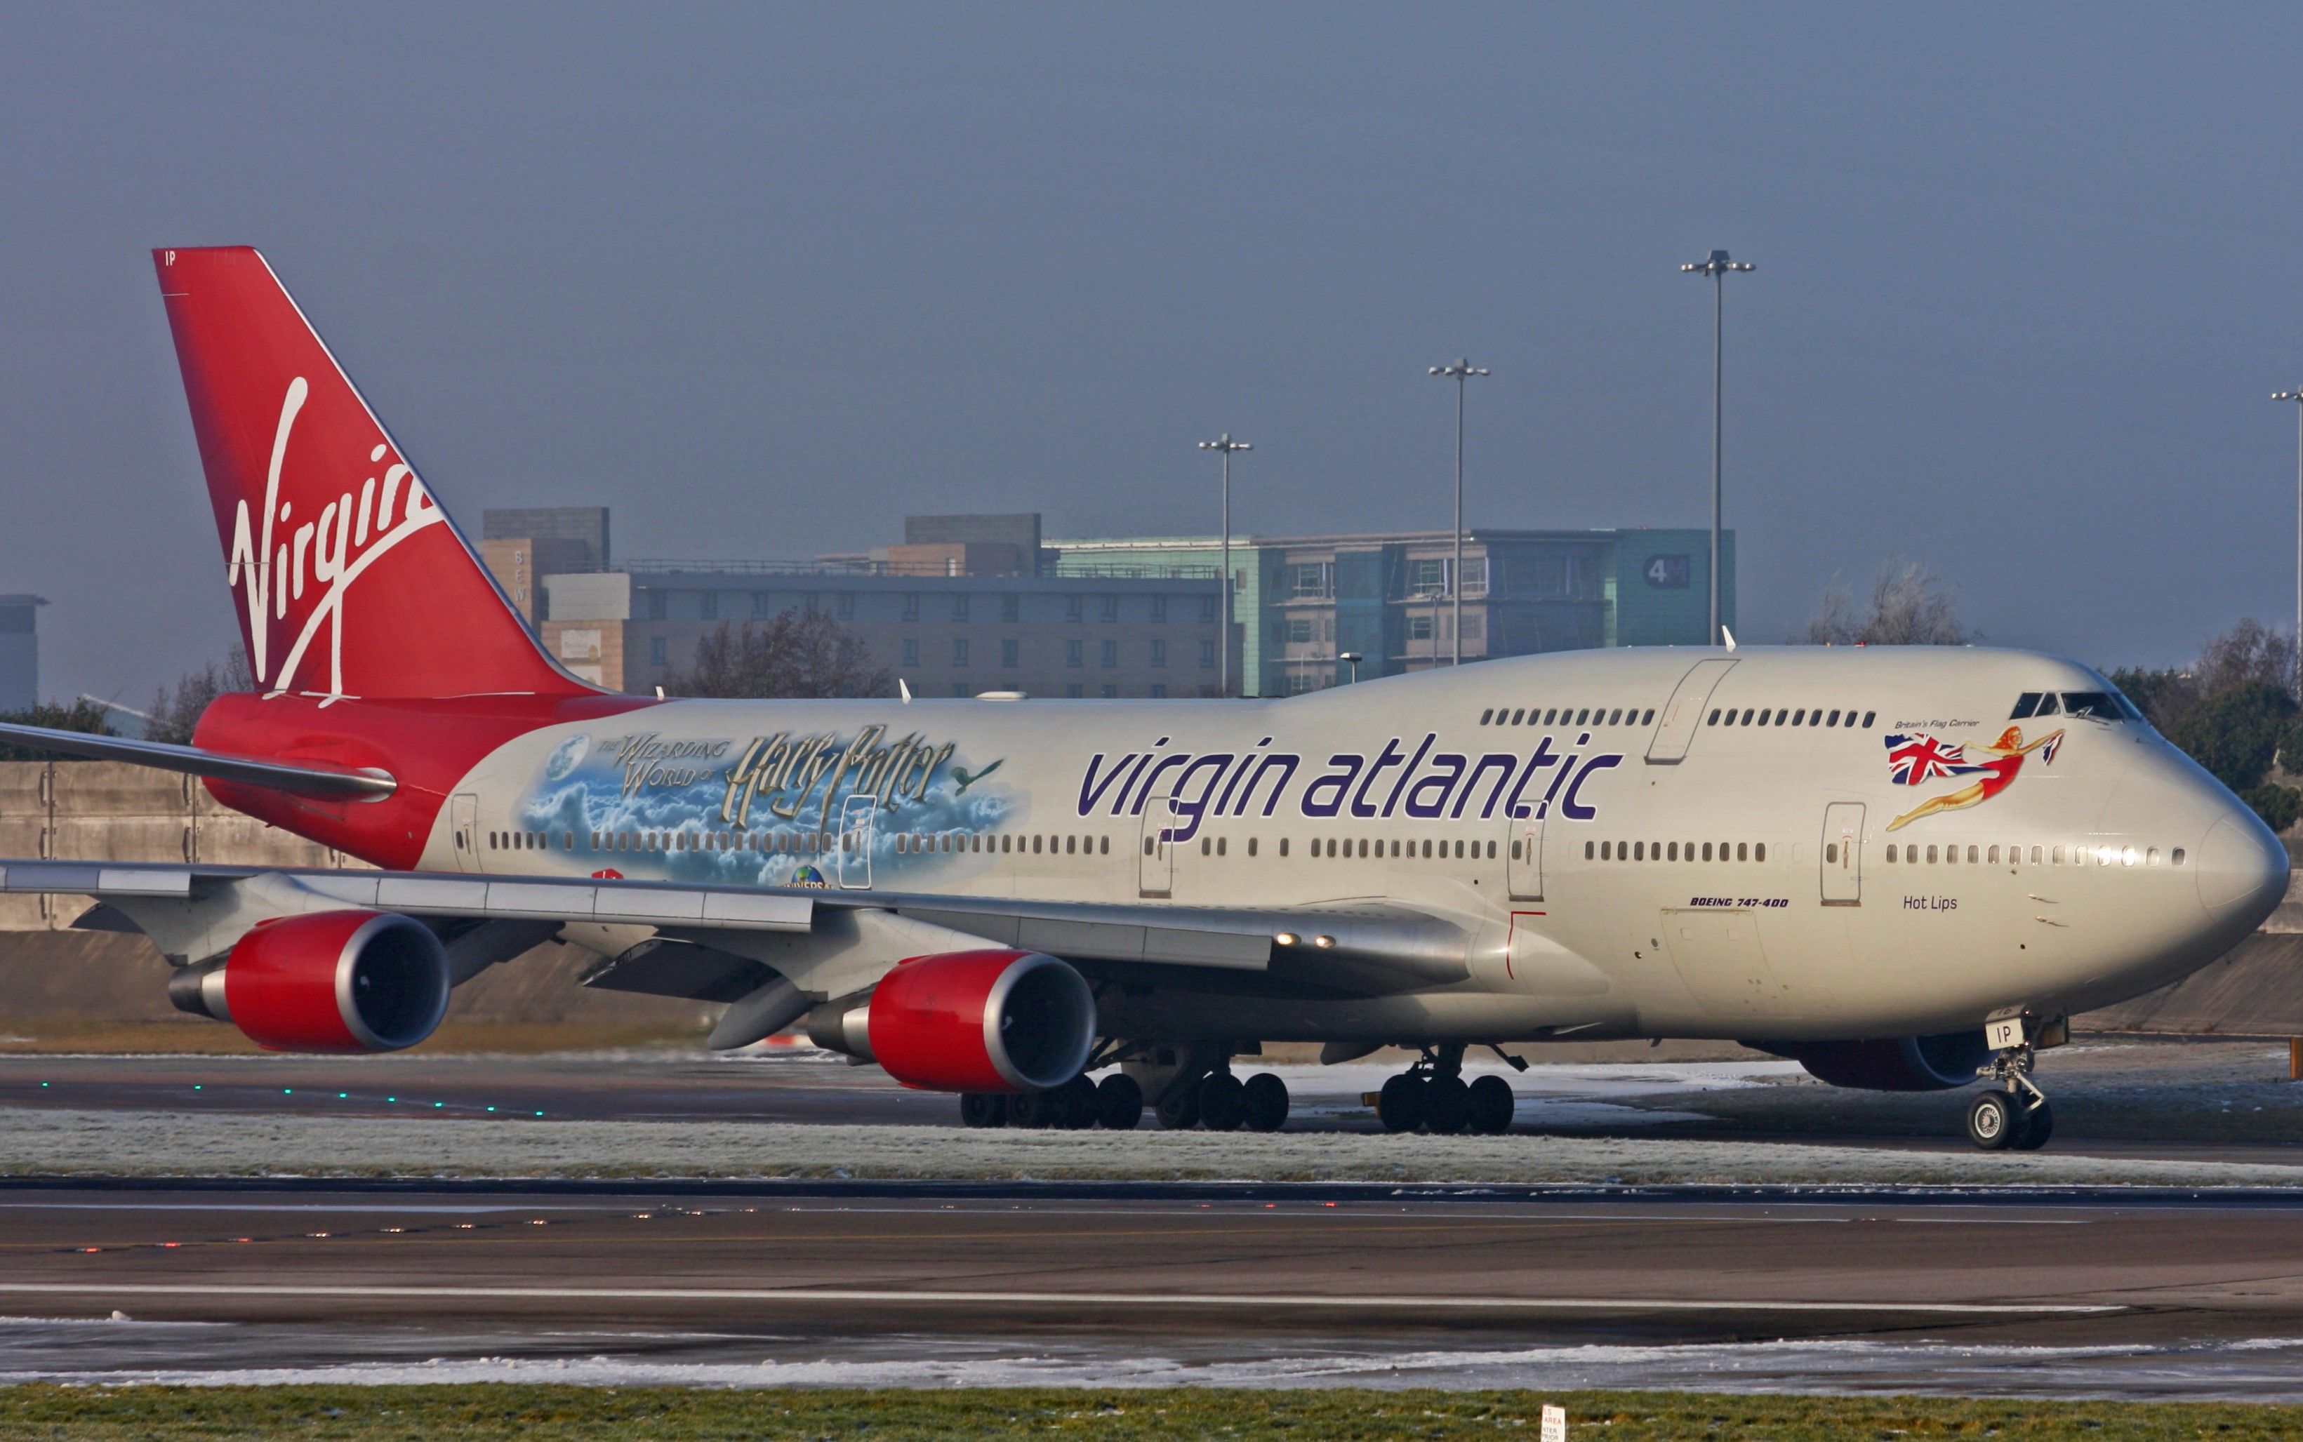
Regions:
<instances>
[{"instance_id":1,"label":"long thin white line painted across the foreground runway","mask_svg":"<svg viewBox=\"0 0 2303 1442\"><path fill-rule=\"evenodd\" d=\"M1748 1311L2080 1315L2128 1311L2080 1301L1700 1301L1686 1297L1322 1297L1315 1292L935 1292L889 1288L456 1288L389 1283L0 1283L0 1292L143 1297L362 1297L470 1301L903 1301L960 1306L1350 1306L1363 1311Z\"/></svg>"}]
</instances>

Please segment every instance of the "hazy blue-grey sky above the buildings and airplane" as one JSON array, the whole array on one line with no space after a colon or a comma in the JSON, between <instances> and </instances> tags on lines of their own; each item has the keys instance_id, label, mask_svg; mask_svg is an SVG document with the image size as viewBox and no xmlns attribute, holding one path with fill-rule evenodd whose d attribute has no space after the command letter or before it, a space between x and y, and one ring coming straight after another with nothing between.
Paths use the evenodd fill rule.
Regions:
<instances>
[{"instance_id":1,"label":"hazy blue-grey sky above the buildings and airplane","mask_svg":"<svg viewBox=\"0 0 2303 1442\"><path fill-rule=\"evenodd\" d=\"M251 242L442 502L636 557L907 511L1702 525L1746 640L1923 560L1990 640L2291 624L2291 7L0 9L0 592L44 689L235 629L145 251Z\"/></svg>"}]
</instances>

